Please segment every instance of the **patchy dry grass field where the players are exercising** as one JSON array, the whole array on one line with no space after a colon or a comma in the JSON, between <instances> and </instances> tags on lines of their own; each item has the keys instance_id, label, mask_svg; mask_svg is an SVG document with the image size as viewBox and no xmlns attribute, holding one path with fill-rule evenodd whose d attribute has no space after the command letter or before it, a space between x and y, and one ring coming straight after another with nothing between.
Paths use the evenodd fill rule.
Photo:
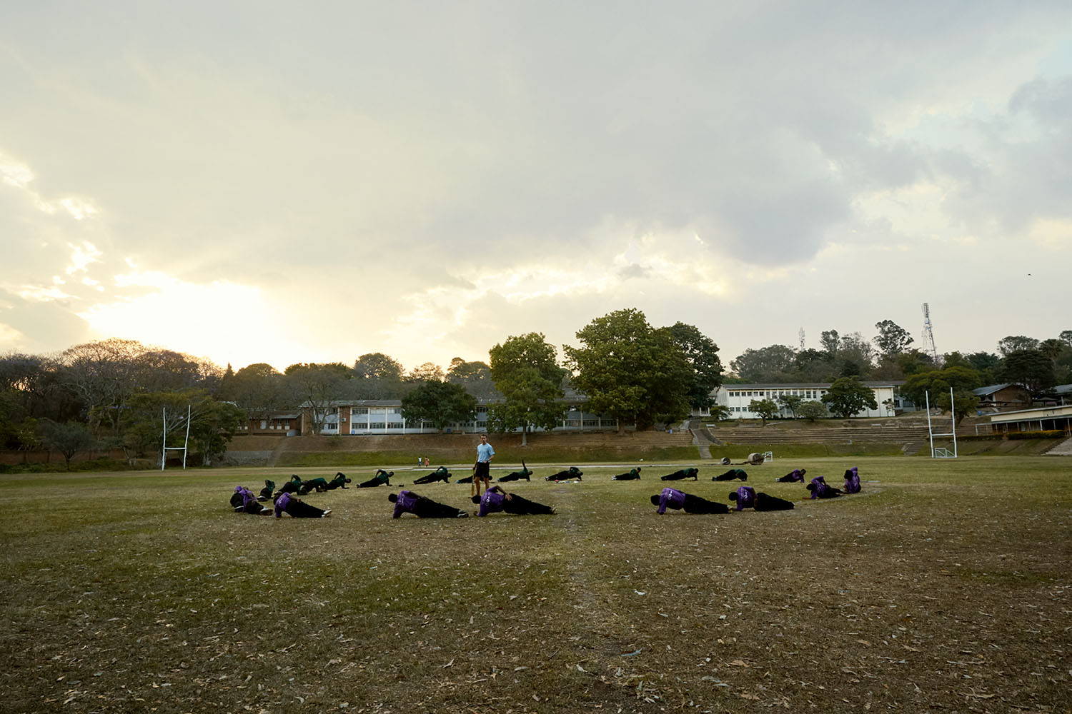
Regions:
<instances>
[{"instance_id":1,"label":"patchy dry grass field where the players are exercising","mask_svg":"<svg viewBox=\"0 0 1072 714\"><path fill-rule=\"evenodd\" d=\"M773 483L853 465L858 496ZM796 508L728 516L657 516L678 466L582 468L506 484L555 516L449 521L386 487L229 511L289 470L2 475L3 709L1072 711L1068 458L775 461L748 483ZM728 502L719 471L678 485Z\"/></svg>"}]
</instances>

